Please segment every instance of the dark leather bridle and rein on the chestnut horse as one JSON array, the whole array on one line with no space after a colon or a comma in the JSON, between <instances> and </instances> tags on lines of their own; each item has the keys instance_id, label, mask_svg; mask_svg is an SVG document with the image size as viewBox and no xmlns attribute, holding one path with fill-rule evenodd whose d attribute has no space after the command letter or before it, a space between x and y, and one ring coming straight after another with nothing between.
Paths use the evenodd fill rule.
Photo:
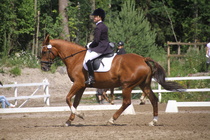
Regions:
<instances>
[{"instance_id":1,"label":"dark leather bridle and rein on the chestnut horse","mask_svg":"<svg viewBox=\"0 0 210 140\"><path fill-rule=\"evenodd\" d=\"M44 46L43 46L43 47L44 47ZM67 58L69 58L69 57L73 57L73 56L75 56L75 55L77 55L77 54L79 54L79 53L81 53L81 52L84 52L84 51L87 51L87 49L81 50L81 51L79 51L79 52L76 52L76 53L74 53L74 54L71 54L71 55L69 55L69 56L66 56L65 58L63 58L63 60L65 60L65 59L67 59ZM53 56L56 57L56 55L52 52L52 45L51 45L51 44L47 45L47 52L46 52L46 53L48 53L48 56L49 56L49 57L50 57L50 53L52 53ZM41 62L41 64L44 63L44 64L47 64L47 65L52 65L54 61L53 61L53 59L50 57L50 58L49 58L49 61L40 61L40 62Z\"/></svg>"}]
</instances>

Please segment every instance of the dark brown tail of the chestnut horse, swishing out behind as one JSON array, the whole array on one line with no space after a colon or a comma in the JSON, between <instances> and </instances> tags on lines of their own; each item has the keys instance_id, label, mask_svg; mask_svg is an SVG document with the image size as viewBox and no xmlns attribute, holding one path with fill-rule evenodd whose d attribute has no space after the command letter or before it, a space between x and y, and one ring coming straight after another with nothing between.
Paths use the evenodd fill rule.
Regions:
<instances>
[{"instance_id":1,"label":"dark brown tail of the chestnut horse, swishing out behind","mask_svg":"<svg viewBox=\"0 0 210 140\"><path fill-rule=\"evenodd\" d=\"M172 81L166 81L166 73L163 67L149 57L145 58L145 62L152 69L154 79L166 90L182 92L186 89L180 84ZM152 62L149 63L149 62Z\"/></svg>"}]
</instances>

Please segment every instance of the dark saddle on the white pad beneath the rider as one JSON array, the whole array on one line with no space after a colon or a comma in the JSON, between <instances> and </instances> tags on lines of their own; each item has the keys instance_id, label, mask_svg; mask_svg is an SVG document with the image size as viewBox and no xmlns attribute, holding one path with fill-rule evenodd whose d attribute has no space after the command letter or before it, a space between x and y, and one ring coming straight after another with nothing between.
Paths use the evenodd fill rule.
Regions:
<instances>
[{"instance_id":1,"label":"dark saddle on the white pad beneath the rider","mask_svg":"<svg viewBox=\"0 0 210 140\"><path fill-rule=\"evenodd\" d=\"M104 66L104 63L102 62L103 58L110 58L112 56L114 56L114 52L109 53L109 54L103 54L103 55L91 60L93 70L98 70L100 67L100 64L102 64Z\"/></svg>"}]
</instances>

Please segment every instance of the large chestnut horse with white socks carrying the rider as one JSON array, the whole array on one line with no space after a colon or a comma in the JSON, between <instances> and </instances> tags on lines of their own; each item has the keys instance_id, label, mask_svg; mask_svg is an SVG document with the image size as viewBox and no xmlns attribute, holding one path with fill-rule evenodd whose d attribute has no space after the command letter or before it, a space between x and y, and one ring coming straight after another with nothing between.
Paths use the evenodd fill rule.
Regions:
<instances>
[{"instance_id":1,"label":"large chestnut horse with white socks carrying the rider","mask_svg":"<svg viewBox=\"0 0 210 140\"><path fill-rule=\"evenodd\" d=\"M87 71L83 67L83 60L87 49L73 42L61 39L50 39L49 35L42 43L41 69L49 71L53 60L60 57L66 65L67 73L73 82L70 91L66 96L66 103L71 112L66 126L71 126L75 116L84 119L84 114L77 111L86 87L93 88L115 88L122 87L123 102L121 107L107 121L107 124L114 124L121 113L131 104L131 91L139 86L149 98L153 107L153 120L149 123L155 126L158 121L158 98L151 89L152 77L166 90L179 91L184 87L176 82L165 81L165 70L163 67L149 57L143 57L134 53L116 55L113 59L111 69L107 72L95 72L95 83L91 86L86 85ZM72 102L72 97L75 96Z\"/></svg>"}]
</instances>

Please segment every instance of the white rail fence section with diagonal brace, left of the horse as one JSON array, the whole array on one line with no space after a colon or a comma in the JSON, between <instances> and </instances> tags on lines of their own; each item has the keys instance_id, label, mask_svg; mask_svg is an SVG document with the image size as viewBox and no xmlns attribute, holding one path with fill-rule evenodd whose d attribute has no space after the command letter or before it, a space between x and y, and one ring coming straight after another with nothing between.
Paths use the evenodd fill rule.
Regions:
<instances>
[{"instance_id":1,"label":"white rail fence section with diagonal brace, left of the horse","mask_svg":"<svg viewBox=\"0 0 210 140\"><path fill-rule=\"evenodd\" d=\"M18 88L19 87L28 87L28 86L38 86L38 88L30 95L30 96L18 96ZM14 88L14 97L7 97L7 100L15 100L15 105L17 105L18 100L26 99L18 108L25 105L29 99L35 98L44 98L44 103L46 105L50 105L50 94L49 94L49 82L47 79L44 79L42 83L25 83L25 84L8 84L0 86L0 88ZM35 95L38 90L43 88L44 94L43 95Z\"/></svg>"}]
</instances>

